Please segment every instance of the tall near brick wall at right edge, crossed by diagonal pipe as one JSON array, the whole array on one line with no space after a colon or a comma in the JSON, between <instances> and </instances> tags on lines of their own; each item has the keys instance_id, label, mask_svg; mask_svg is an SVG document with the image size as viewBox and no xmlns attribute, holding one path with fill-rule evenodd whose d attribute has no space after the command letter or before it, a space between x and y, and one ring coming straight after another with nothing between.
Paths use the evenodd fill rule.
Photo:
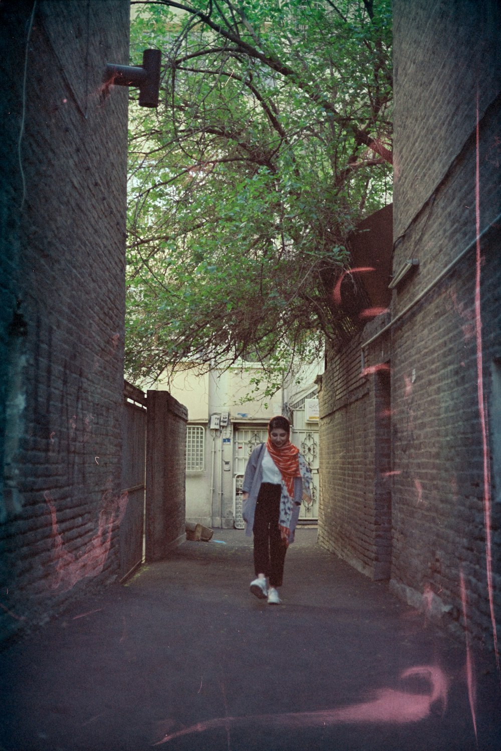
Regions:
<instances>
[{"instance_id":1,"label":"tall near brick wall at right edge, crossed by diagonal pipe","mask_svg":"<svg viewBox=\"0 0 501 751\"><path fill-rule=\"evenodd\" d=\"M501 354L499 226L481 242L478 287L474 241L475 199L480 231L501 209L501 61L496 41L501 16L496 2L460 2L452 8L421 0L412 4L412 17L408 4L396 2L394 11L400 167L394 190L399 238L394 269L409 255L420 261L418 273L394 291L394 315L463 249L473 247L392 330L393 451L399 474L393 487L391 584L408 602L422 602L423 594L431 592L436 613L446 614L457 629L462 572L469 628L492 644L484 518L489 491L484 487L477 366L481 358L480 385L492 408L491 368ZM425 43L414 46L418 37ZM435 41L430 57L427 45ZM427 83L418 86L418 81ZM490 429L499 432L495 424ZM492 471L489 445L485 448ZM499 488L491 490L493 598L499 602Z\"/></svg>"}]
</instances>

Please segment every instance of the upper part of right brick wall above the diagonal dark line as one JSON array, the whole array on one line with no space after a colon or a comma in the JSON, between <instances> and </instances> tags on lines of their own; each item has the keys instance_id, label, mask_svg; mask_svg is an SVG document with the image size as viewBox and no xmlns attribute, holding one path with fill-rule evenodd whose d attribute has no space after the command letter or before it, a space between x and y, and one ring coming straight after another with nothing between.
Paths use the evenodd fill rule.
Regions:
<instances>
[{"instance_id":1,"label":"upper part of right brick wall above the diagonal dark line","mask_svg":"<svg viewBox=\"0 0 501 751\"><path fill-rule=\"evenodd\" d=\"M496 0L394 0L393 11L397 240L474 130L477 92L480 116L499 94L501 50Z\"/></svg>"}]
</instances>

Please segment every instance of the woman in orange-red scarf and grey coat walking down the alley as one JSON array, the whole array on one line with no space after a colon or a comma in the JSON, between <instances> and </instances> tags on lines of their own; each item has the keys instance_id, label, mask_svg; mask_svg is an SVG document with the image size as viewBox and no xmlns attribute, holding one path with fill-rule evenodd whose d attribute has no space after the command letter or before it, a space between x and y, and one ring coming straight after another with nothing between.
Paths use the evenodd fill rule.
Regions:
<instances>
[{"instance_id":1,"label":"woman in orange-red scarf and grey coat walking down the alley","mask_svg":"<svg viewBox=\"0 0 501 751\"><path fill-rule=\"evenodd\" d=\"M311 472L299 449L290 442L291 425L276 417L268 425L268 440L256 446L243 478L243 519L246 535L254 533L255 579L250 591L281 602L285 553L294 541L294 529L303 498L311 498Z\"/></svg>"}]
</instances>

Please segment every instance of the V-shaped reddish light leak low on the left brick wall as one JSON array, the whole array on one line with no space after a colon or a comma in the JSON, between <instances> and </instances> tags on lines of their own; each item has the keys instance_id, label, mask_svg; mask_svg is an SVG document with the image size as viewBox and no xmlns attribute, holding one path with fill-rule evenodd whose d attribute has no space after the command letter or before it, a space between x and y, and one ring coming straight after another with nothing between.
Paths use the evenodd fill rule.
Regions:
<instances>
[{"instance_id":1,"label":"V-shaped reddish light leak low on the left brick wall","mask_svg":"<svg viewBox=\"0 0 501 751\"><path fill-rule=\"evenodd\" d=\"M50 493L44 493L44 498L50 508L52 520L52 537L54 541L53 558L55 561L55 573L53 575L53 590L61 587L62 592L67 592L77 584L77 581L89 576L101 573L106 562L111 546L111 534L113 527L122 521L127 507L127 493L110 502L110 491L103 495L103 508L98 517L98 532L86 546L80 556L65 550L65 543L59 533L56 516L56 504Z\"/></svg>"}]
</instances>

